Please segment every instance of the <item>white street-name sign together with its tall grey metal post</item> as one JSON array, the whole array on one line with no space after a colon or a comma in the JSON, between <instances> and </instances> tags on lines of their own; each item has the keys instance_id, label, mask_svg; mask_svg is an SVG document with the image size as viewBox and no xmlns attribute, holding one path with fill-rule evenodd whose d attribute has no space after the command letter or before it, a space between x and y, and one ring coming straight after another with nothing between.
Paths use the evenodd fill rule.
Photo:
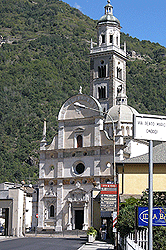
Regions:
<instances>
[{"instance_id":1,"label":"white street-name sign together with its tall grey metal post","mask_svg":"<svg viewBox=\"0 0 166 250\"><path fill-rule=\"evenodd\" d=\"M153 250L153 141L166 141L166 116L138 114L133 120L134 139L149 140L148 250Z\"/></svg>"}]
</instances>

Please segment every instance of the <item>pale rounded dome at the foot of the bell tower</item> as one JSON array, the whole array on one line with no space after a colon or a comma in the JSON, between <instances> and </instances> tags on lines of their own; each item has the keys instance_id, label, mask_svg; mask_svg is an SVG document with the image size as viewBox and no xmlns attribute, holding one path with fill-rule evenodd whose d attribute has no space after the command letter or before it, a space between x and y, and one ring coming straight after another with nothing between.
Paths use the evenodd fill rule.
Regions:
<instances>
[{"instance_id":1,"label":"pale rounded dome at the foot of the bell tower","mask_svg":"<svg viewBox=\"0 0 166 250\"><path fill-rule=\"evenodd\" d=\"M106 122L111 122L109 116L112 117L114 122L117 122L119 119L121 122L133 122L133 114L138 115L139 113L128 105L115 105L109 109Z\"/></svg>"}]
</instances>

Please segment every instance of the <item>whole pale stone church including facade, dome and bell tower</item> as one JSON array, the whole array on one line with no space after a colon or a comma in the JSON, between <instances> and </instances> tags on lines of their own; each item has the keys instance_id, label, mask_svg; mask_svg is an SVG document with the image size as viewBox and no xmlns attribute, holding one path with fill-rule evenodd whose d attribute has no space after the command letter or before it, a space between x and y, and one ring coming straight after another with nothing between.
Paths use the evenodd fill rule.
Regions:
<instances>
[{"instance_id":1,"label":"whole pale stone church including facade, dome and bell tower","mask_svg":"<svg viewBox=\"0 0 166 250\"><path fill-rule=\"evenodd\" d=\"M100 227L100 189L116 181L115 162L146 153L132 139L127 105L126 45L108 0L97 24L98 45L90 48L90 96L79 93L63 104L58 134L50 145L46 121L40 144L38 230ZM96 218L97 216L97 218Z\"/></svg>"}]
</instances>

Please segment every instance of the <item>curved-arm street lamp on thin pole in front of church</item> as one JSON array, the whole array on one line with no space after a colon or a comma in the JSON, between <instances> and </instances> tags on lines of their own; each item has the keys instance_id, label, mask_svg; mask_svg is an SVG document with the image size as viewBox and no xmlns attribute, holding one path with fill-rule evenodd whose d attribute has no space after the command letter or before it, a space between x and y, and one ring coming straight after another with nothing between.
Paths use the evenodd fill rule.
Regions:
<instances>
[{"instance_id":1,"label":"curved-arm street lamp on thin pole in front of church","mask_svg":"<svg viewBox=\"0 0 166 250\"><path fill-rule=\"evenodd\" d=\"M74 106L78 107L78 108L82 108L82 109L90 109L90 110L93 110L93 111L96 111L96 112L100 112L97 109L87 107L87 106L85 106L83 104L80 104L79 102L75 102ZM114 171L114 184L116 184L117 179L116 179L116 165L115 165L115 124L114 124L113 118L107 112L102 111L102 113L108 115L108 117L112 121L112 130L113 130L112 131L113 132L112 133L112 140L113 140L113 171Z\"/></svg>"}]
</instances>

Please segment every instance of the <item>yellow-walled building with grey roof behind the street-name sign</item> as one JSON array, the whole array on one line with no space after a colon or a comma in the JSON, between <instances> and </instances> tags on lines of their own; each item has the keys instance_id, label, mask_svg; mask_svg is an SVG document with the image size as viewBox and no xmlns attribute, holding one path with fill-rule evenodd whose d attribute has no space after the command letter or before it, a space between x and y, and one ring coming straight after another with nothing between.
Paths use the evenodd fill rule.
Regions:
<instances>
[{"instance_id":1,"label":"yellow-walled building with grey roof behind the street-name sign","mask_svg":"<svg viewBox=\"0 0 166 250\"><path fill-rule=\"evenodd\" d=\"M121 200L138 197L148 188L149 154L117 163ZM153 148L153 190L166 191L166 142Z\"/></svg>"}]
</instances>

